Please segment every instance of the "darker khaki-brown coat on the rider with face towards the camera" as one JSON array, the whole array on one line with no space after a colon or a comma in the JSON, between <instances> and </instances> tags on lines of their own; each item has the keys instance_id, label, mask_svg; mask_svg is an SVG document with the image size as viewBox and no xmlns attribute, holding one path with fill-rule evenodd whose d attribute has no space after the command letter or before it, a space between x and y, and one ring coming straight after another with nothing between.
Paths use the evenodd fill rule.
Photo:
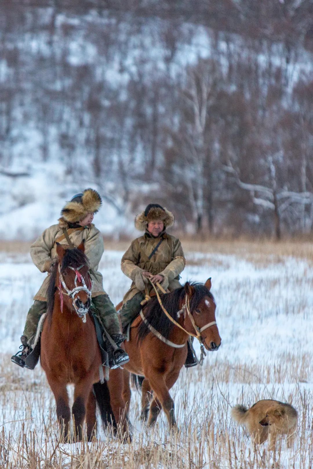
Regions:
<instances>
[{"instance_id":1,"label":"darker khaki-brown coat on the rider with face towards the camera","mask_svg":"<svg viewBox=\"0 0 313 469\"><path fill-rule=\"evenodd\" d=\"M163 275L164 280L161 283L163 288L170 291L181 287L179 283L179 274L183 271L186 260L183 254L183 248L180 241L164 233L158 250L149 260L149 255L160 242L161 238L154 238L144 234L135 239L122 257L122 272L129 277L133 283L130 290L123 298L123 303L129 301L136 293L144 292L145 286L151 290L151 284L142 276L143 271L153 275Z\"/></svg>"}]
</instances>

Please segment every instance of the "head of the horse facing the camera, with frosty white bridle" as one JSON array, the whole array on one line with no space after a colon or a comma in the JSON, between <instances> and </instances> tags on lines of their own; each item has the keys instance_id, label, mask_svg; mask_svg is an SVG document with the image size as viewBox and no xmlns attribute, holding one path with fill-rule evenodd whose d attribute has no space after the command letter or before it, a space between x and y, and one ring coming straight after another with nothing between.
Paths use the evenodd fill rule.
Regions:
<instances>
[{"instance_id":1,"label":"head of the horse facing the camera, with frosty white bridle","mask_svg":"<svg viewBox=\"0 0 313 469\"><path fill-rule=\"evenodd\" d=\"M56 286L59 289L61 310L64 303L85 322L91 306L92 280L88 272L88 259L84 255L84 241L74 249L64 249L58 242L56 245L59 261Z\"/></svg>"}]
</instances>

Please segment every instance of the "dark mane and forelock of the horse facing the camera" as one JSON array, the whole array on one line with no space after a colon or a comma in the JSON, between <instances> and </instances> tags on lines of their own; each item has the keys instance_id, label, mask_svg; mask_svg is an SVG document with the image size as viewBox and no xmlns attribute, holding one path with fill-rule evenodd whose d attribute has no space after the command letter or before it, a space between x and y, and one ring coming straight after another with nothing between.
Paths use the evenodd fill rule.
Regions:
<instances>
[{"instance_id":1,"label":"dark mane and forelock of the horse facing the camera","mask_svg":"<svg viewBox=\"0 0 313 469\"><path fill-rule=\"evenodd\" d=\"M67 249L61 262L61 273L63 273L65 269L69 266L74 267L74 269L76 269L81 265L88 265L89 267L89 261L88 258L85 256L84 252L77 248ZM50 281L47 288L47 317L49 318L50 324L54 306L54 293L56 289L55 281L58 267L59 260L57 259L57 262L55 262L53 265L53 270L51 272Z\"/></svg>"}]
</instances>

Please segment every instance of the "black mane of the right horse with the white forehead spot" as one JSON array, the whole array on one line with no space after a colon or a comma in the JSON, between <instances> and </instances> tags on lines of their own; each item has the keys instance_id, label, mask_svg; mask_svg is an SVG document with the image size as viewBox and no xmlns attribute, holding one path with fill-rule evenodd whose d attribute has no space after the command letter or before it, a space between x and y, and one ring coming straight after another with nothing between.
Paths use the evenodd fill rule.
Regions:
<instances>
[{"instance_id":1,"label":"black mane of the right horse with the white forehead spot","mask_svg":"<svg viewBox=\"0 0 313 469\"><path fill-rule=\"evenodd\" d=\"M194 287L194 293L190 301L190 310L196 309L200 301L208 296L214 300L214 297L210 290L205 287L203 283L190 282L190 285ZM168 314L177 321L177 312L179 308L180 300L183 300L185 296L185 288L177 288L171 293L164 293L160 295L162 304L164 308L168 311ZM167 318L167 316L162 311L158 299L156 296L151 298L148 303L144 306L144 314L146 320L150 325L154 327L165 339L169 338L170 333L174 328L174 324ZM145 337L148 335L150 330L142 321L138 327L138 343L142 342Z\"/></svg>"}]
</instances>

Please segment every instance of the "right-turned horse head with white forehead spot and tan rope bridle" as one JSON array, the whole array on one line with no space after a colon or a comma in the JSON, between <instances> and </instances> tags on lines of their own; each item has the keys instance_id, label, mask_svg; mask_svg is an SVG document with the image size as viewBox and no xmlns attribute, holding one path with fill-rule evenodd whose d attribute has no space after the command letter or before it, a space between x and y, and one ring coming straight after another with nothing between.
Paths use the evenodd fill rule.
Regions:
<instances>
[{"instance_id":1,"label":"right-turned horse head with white forehead spot and tan rope bridle","mask_svg":"<svg viewBox=\"0 0 313 469\"><path fill-rule=\"evenodd\" d=\"M211 286L211 277L204 285L186 282L183 310L186 331L198 335L205 348L213 351L220 347L221 337L215 319L216 304L210 292Z\"/></svg>"}]
</instances>

